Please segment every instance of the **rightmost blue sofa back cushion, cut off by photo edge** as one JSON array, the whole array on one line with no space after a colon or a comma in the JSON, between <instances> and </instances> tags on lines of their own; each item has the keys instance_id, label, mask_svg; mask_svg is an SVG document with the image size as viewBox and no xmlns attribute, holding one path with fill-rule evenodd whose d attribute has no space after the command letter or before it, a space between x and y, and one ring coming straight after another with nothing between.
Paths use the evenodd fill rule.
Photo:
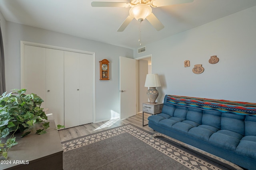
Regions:
<instances>
[{"instance_id":1,"label":"rightmost blue sofa back cushion, cut off by photo edge","mask_svg":"<svg viewBox=\"0 0 256 170\"><path fill-rule=\"evenodd\" d=\"M246 116L244 124L244 135L256 136L256 116Z\"/></svg>"}]
</instances>

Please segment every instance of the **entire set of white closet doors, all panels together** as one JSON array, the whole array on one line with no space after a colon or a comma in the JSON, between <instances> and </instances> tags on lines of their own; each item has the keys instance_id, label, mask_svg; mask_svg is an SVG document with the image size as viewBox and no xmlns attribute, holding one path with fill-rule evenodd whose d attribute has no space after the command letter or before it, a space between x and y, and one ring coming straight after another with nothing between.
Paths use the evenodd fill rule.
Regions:
<instances>
[{"instance_id":1,"label":"entire set of white closet doors, all panels together","mask_svg":"<svg viewBox=\"0 0 256 170\"><path fill-rule=\"evenodd\" d=\"M21 88L44 100L42 108L53 114L56 125L93 122L94 84L94 55L21 43Z\"/></svg>"}]
</instances>

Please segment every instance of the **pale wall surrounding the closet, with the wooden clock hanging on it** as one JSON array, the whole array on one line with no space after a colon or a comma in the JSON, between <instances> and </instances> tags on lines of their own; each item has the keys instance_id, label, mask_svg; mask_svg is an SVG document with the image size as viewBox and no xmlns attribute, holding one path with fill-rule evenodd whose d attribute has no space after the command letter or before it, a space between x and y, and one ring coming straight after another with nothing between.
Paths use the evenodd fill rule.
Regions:
<instances>
[{"instance_id":1,"label":"pale wall surrounding the closet, with the wooden clock hanging on it","mask_svg":"<svg viewBox=\"0 0 256 170\"><path fill-rule=\"evenodd\" d=\"M120 114L119 56L133 57L133 50L71 35L7 23L6 90L20 88L20 41L30 41L96 53L96 121ZM110 61L110 80L99 80L99 61Z\"/></svg>"}]
</instances>

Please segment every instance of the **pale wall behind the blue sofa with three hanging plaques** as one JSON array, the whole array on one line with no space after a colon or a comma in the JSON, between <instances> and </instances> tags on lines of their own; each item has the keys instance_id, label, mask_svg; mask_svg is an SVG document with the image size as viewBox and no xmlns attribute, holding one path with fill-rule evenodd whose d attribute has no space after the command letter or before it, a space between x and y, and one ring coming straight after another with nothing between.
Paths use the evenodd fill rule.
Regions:
<instances>
[{"instance_id":1,"label":"pale wall behind the blue sofa with three hanging plaques","mask_svg":"<svg viewBox=\"0 0 256 170\"><path fill-rule=\"evenodd\" d=\"M165 94L256 103L256 6L146 45ZM210 56L220 61L208 63ZM134 50L134 57L141 57ZM190 67L184 61L190 60ZM194 74L195 64L204 72Z\"/></svg>"}]
</instances>

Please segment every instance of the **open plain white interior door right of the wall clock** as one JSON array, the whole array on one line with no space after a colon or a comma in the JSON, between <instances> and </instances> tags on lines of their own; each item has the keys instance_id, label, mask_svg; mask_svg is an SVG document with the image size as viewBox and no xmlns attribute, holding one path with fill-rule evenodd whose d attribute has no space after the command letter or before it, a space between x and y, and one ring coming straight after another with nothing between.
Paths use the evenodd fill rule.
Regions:
<instances>
[{"instance_id":1,"label":"open plain white interior door right of the wall clock","mask_svg":"<svg viewBox=\"0 0 256 170\"><path fill-rule=\"evenodd\" d=\"M136 60L120 57L120 119L136 115Z\"/></svg>"}]
</instances>

